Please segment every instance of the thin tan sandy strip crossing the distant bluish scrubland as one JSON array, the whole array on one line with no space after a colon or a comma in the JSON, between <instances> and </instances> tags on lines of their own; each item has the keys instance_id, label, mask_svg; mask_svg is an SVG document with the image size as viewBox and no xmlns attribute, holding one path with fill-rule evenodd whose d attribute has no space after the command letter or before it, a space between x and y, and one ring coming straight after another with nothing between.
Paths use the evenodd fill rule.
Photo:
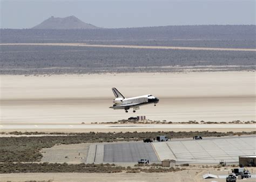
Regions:
<instances>
[{"instance_id":1,"label":"thin tan sandy strip crossing the distant bluish scrubland","mask_svg":"<svg viewBox=\"0 0 256 182\"><path fill-rule=\"evenodd\" d=\"M83 46L83 47L111 47L111 48L146 48L165 50L205 50L205 51L256 51L255 48L213 48L213 47L174 47L174 46L135 46L135 45L100 45L100 44L76 44L76 43L14 43L4 45L44 45L44 46Z\"/></svg>"}]
</instances>

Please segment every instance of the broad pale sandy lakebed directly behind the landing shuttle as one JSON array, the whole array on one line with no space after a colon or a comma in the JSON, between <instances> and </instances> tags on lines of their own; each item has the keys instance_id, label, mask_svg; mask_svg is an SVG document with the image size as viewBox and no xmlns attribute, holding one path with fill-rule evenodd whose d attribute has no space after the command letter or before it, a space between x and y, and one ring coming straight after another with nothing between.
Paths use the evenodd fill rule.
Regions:
<instances>
[{"instance_id":1,"label":"broad pale sandy lakebed directly behind the landing shuttle","mask_svg":"<svg viewBox=\"0 0 256 182\"><path fill-rule=\"evenodd\" d=\"M137 113L109 109L111 88L160 99ZM145 115L150 120L255 121L255 72L1 75L0 124L80 124Z\"/></svg>"}]
</instances>

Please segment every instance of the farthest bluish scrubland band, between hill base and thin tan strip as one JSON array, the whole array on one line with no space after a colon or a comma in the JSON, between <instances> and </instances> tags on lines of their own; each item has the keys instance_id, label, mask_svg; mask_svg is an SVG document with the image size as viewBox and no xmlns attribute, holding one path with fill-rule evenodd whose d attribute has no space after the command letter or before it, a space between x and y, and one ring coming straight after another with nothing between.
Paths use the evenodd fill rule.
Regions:
<instances>
[{"instance_id":1,"label":"farthest bluish scrubland band, between hill base and thin tan strip","mask_svg":"<svg viewBox=\"0 0 256 182\"><path fill-rule=\"evenodd\" d=\"M0 29L1 43L88 43L255 47L255 25L182 25L122 29ZM184 41L187 40L187 43ZM135 44L135 45L137 45Z\"/></svg>"}]
</instances>

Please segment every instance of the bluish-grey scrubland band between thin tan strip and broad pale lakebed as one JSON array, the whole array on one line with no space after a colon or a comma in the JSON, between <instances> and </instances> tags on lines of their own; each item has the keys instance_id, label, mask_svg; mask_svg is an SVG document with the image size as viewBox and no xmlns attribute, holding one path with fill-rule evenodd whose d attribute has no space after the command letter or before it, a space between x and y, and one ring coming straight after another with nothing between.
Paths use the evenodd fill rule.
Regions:
<instances>
[{"instance_id":1,"label":"bluish-grey scrubland band between thin tan strip and broad pale lakebed","mask_svg":"<svg viewBox=\"0 0 256 182\"><path fill-rule=\"evenodd\" d=\"M17 75L255 71L253 51L5 45L1 58L0 74Z\"/></svg>"}]
</instances>

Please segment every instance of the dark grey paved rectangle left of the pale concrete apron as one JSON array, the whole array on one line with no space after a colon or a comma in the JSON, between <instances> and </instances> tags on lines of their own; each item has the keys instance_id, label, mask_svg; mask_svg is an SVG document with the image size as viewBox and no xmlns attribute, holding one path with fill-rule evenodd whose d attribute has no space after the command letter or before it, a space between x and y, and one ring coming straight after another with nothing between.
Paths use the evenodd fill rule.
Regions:
<instances>
[{"instance_id":1,"label":"dark grey paved rectangle left of the pale concrete apron","mask_svg":"<svg viewBox=\"0 0 256 182\"><path fill-rule=\"evenodd\" d=\"M104 145L104 162L137 162L139 159L149 159L159 162L151 143L130 142Z\"/></svg>"}]
</instances>

